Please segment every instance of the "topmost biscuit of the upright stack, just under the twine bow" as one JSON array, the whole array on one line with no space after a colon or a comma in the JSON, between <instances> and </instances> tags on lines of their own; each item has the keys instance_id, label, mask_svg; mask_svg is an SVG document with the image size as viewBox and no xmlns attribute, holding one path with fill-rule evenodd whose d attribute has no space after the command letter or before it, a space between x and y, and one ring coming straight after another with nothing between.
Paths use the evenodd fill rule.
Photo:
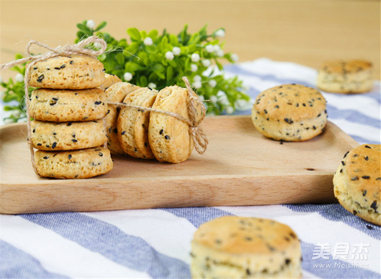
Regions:
<instances>
[{"instance_id":1,"label":"topmost biscuit of the upright stack, just under the twine bow","mask_svg":"<svg viewBox=\"0 0 381 279\"><path fill-rule=\"evenodd\" d=\"M87 56L57 56L30 68L29 85L53 89L87 89L105 82L102 62Z\"/></svg>"}]
</instances>

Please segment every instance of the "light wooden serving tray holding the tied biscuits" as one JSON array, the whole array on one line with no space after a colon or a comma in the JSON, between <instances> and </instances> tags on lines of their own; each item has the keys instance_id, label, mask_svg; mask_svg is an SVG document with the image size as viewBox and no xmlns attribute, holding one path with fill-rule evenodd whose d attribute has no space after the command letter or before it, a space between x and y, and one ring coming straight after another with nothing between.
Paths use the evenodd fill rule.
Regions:
<instances>
[{"instance_id":1,"label":"light wooden serving tray holding the tied biscuits","mask_svg":"<svg viewBox=\"0 0 381 279\"><path fill-rule=\"evenodd\" d=\"M39 178L31 167L26 125L0 128L0 213L333 202L332 178L358 143L334 124L306 142L270 140L250 116L207 117L209 146L179 164L113 156L106 175Z\"/></svg>"}]
</instances>

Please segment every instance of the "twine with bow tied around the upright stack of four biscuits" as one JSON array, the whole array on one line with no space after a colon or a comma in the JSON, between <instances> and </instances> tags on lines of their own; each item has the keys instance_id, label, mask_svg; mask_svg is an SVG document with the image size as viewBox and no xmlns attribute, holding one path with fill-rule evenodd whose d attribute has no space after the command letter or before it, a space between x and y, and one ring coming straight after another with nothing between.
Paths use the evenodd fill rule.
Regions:
<instances>
[{"instance_id":1,"label":"twine with bow tied around the upright stack of four biscuits","mask_svg":"<svg viewBox=\"0 0 381 279\"><path fill-rule=\"evenodd\" d=\"M85 47L91 43L99 43L101 48L99 50L86 49ZM43 54L33 55L30 53L30 48L34 45L45 48L48 51ZM31 131L30 131L30 115L29 115L29 74L30 74L31 66L33 66L39 61L43 61L43 60L57 57L57 56L70 57L73 55L81 55L81 56L90 56L91 58L96 58L98 55L101 55L106 50L106 48L107 48L106 42L103 39L98 38L96 36L90 36L87 39L80 41L78 42L78 44L75 44L72 46L70 45L58 46L55 49L52 49L51 47L37 41L30 41L28 45L26 46L26 54L28 57L21 58L21 59L0 65L0 71L3 71L3 69L11 68L18 64L26 63L30 61L30 63L26 64L25 66L24 92L25 92L28 144L29 144L29 150L31 155L31 163L36 173L37 173L37 168L36 168L36 162L35 162L35 151L33 149L33 145L31 144L31 140L30 140Z\"/></svg>"}]
</instances>

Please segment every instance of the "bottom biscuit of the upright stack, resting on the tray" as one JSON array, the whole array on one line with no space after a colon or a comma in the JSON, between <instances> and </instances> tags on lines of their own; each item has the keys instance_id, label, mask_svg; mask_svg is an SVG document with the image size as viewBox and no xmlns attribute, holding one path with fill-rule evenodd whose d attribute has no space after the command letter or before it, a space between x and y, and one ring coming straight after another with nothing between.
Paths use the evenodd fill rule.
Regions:
<instances>
[{"instance_id":1,"label":"bottom biscuit of the upright stack, resting on the tray","mask_svg":"<svg viewBox=\"0 0 381 279\"><path fill-rule=\"evenodd\" d=\"M42 177L81 179L104 175L112 169L110 151L103 147L35 153L37 172Z\"/></svg>"}]
</instances>

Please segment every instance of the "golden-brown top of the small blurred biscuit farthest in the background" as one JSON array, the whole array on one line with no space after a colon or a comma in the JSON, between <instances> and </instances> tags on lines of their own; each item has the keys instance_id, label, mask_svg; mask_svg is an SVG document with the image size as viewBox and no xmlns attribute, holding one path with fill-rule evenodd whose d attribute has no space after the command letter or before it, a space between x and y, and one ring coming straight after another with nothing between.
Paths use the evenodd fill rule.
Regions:
<instances>
[{"instance_id":1,"label":"golden-brown top of the small blurred biscuit farthest in the background","mask_svg":"<svg viewBox=\"0 0 381 279\"><path fill-rule=\"evenodd\" d=\"M365 60L334 60L323 63L320 71L327 72L328 74L348 74L357 73L372 68L372 63Z\"/></svg>"}]
</instances>

